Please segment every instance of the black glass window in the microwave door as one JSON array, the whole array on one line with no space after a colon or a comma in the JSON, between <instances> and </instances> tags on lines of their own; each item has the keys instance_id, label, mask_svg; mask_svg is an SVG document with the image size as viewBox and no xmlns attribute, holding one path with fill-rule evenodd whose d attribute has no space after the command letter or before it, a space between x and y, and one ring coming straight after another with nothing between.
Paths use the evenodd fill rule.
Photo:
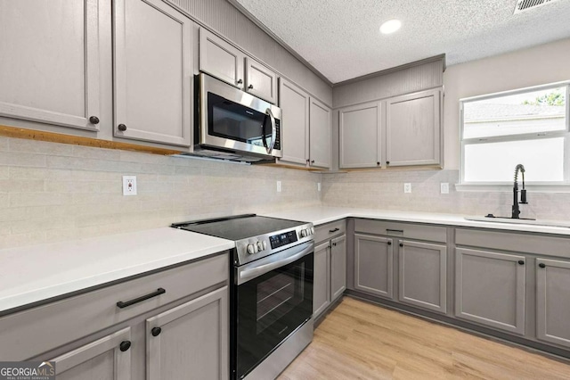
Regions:
<instances>
[{"instance_id":1,"label":"black glass window in the microwave door","mask_svg":"<svg viewBox=\"0 0 570 380\"><path fill-rule=\"evenodd\" d=\"M208 93L209 135L264 146L264 133L265 141L271 141L271 120L265 113Z\"/></svg>"}]
</instances>

